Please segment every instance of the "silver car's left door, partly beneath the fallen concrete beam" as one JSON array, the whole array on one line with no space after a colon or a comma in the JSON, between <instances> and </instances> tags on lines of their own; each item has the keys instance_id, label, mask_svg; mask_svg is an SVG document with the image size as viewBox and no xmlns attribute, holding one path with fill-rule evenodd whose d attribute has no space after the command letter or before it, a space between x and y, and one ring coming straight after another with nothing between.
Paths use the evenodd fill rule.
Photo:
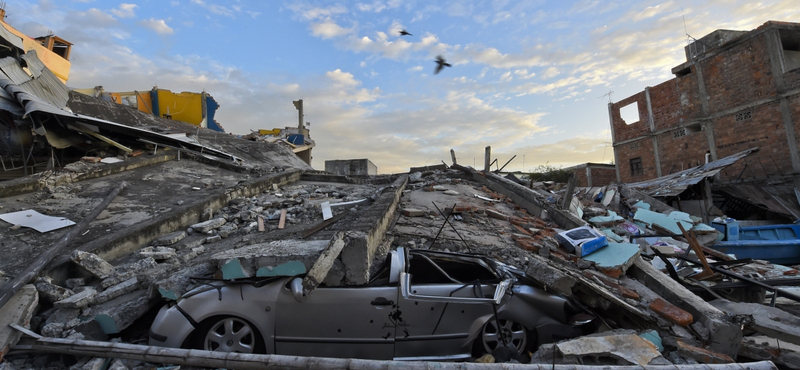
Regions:
<instances>
[{"instance_id":1,"label":"silver car's left door, partly beneath the fallen concrete beam","mask_svg":"<svg viewBox=\"0 0 800 370\"><path fill-rule=\"evenodd\" d=\"M286 287L276 312L280 355L392 359L397 286L318 287L298 301Z\"/></svg>"}]
</instances>

